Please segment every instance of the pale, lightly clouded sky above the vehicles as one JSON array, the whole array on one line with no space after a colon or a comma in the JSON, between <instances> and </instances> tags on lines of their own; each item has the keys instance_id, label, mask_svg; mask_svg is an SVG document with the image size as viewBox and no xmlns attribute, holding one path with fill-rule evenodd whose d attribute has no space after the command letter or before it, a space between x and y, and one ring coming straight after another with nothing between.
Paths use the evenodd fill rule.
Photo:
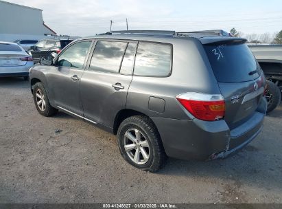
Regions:
<instances>
[{"instance_id":1,"label":"pale, lightly clouded sky above the vehicles","mask_svg":"<svg viewBox=\"0 0 282 209\"><path fill-rule=\"evenodd\" d=\"M43 10L57 34L90 36L112 30L213 30L274 34L282 30L282 1L271 0L8 0Z\"/></svg>"}]
</instances>

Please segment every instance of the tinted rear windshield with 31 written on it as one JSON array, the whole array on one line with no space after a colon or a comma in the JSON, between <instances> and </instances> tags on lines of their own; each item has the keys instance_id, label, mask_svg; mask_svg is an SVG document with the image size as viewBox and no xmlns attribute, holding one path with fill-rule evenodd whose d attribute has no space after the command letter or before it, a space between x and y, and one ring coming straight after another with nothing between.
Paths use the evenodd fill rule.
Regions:
<instances>
[{"instance_id":1,"label":"tinted rear windshield with 31 written on it","mask_svg":"<svg viewBox=\"0 0 282 209\"><path fill-rule=\"evenodd\" d=\"M246 44L204 45L218 82L235 83L259 77L257 61Z\"/></svg>"}]
</instances>

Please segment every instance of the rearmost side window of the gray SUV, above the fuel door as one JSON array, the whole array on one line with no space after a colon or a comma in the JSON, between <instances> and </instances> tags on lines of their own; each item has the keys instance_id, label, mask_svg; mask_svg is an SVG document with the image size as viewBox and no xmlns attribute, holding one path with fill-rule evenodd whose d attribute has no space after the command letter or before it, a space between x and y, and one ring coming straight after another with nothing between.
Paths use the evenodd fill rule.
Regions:
<instances>
[{"instance_id":1,"label":"rearmost side window of the gray SUV, above the fuel door","mask_svg":"<svg viewBox=\"0 0 282 209\"><path fill-rule=\"evenodd\" d=\"M135 76L169 76L172 45L139 42L134 66Z\"/></svg>"}]
</instances>

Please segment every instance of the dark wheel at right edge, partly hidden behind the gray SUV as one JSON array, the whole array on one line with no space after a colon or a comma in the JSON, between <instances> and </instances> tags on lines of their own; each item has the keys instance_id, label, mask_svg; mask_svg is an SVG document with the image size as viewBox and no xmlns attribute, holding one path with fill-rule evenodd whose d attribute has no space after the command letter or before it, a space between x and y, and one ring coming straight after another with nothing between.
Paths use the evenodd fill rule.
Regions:
<instances>
[{"instance_id":1,"label":"dark wheel at right edge, partly hidden behind the gray SUV","mask_svg":"<svg viewBox=\"0 0 282 209\"><path fill-rule=\"evenodd\" d=\"M277 85L272 83L270 80L267 80L266 84L266 100L268 101L268 110L266 112L269 113L280 104L281 91L279 87L277 87Z\"/></svg>"}]
</instances>

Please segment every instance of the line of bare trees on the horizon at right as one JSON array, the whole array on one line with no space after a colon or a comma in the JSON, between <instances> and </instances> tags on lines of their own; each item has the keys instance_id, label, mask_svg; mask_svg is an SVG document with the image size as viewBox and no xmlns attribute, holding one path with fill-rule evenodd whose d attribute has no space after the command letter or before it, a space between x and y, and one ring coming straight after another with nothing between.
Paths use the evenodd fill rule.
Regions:
<instances>
[{"instance_id":1,"label":"line of bare trees on the horizon at right","mask_svg":"<svg viewBox=\"0 0 282 209\"><path fill-rule=\"evenodd\" d=\"M280 32L270 34L244 34L238 32L235 28L230 30L230 34L235 37L242 37L248 40L248 43L272 43L272 44L282 44L282 30Z\"/></svg>"}]
</instances>

